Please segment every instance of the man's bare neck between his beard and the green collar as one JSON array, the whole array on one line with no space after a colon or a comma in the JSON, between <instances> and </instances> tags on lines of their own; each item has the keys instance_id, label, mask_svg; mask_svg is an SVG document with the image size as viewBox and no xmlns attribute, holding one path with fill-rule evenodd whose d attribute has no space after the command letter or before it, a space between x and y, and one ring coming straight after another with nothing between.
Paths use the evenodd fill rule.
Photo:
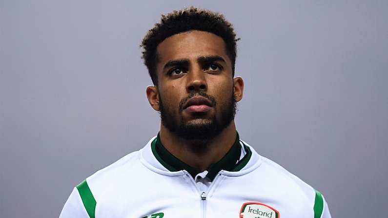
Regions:
<instances>
[{"instance_id":1,"label":"man's bare neck between his beard and the green collar","mask_svg":"<svg viewBox=\"0 0 388 218\"><path fill-rule=\"evenodd\" d=\"M215 138L209 140L185 140L170 132L161 124L160 139L163 146L176 158L191 167L205 170L222 159L236 140L234 120Z\"/></svg>"}]
</instances>

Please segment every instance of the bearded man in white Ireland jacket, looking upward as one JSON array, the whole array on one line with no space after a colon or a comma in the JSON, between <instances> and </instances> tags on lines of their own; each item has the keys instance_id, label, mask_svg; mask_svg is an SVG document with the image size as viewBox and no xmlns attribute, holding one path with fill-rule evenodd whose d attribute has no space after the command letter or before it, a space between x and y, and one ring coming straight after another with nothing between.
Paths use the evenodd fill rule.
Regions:
<instances>
[{"instance_id":1,"label":"bearded man in white Ireland jacket, looking upward","mask_svg":"<svg viewBox=\"0 0 388 218\"><path fill-rule=\"evenodd\" d=\"M239 139L237 40L210 11L162 16L142 42L159 134L77 185L60 218L330 218L318 191Z\"/></svg>"}]
</instances>

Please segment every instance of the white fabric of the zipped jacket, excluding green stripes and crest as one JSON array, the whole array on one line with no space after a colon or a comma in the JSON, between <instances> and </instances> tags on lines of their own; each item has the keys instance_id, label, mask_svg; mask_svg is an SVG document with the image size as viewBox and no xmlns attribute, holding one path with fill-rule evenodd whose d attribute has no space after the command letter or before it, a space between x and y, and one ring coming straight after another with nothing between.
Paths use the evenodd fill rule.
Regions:
<instances>
[{"instance_id":1,"label":"white fabric of the zipped jacket, excluding green stripes and crest","mask_svg":"<svg viewBox=\"0 0 388 218\"><path fill-rule=\"evenodd\" d=\"M314 189L246 142L252 156L245 167L222 170L210 182L206 172L195 180L185 170L169 172L152 154L153 139L86 179L97 201L96 218L150 218L155 213L163 218L238 218L246 202L276 209L281 218L314 218ZM77 189L60 218L88 218ZM322 218L331 218L325 200Z\"/></svg>"}]
</instances>

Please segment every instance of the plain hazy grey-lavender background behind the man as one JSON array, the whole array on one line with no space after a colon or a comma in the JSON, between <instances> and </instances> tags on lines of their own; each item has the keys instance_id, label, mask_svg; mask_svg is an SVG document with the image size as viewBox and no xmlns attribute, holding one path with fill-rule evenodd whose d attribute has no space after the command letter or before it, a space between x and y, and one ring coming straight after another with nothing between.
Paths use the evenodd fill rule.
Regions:
<instances>
[{"instance_id":1,"label":"plain hazy grey-lavender background behind the man","mask_svg":"<svg viewBox=\"0 0 388 218\"><path fill-rule=\"evenodd\" d=\"M242 38L238 131L320 190L386 217L388 1L0 1L0 217L58 217L72 188L159 129L139 44L162 13L225 14Z\"/></svg>"}]
</instances>

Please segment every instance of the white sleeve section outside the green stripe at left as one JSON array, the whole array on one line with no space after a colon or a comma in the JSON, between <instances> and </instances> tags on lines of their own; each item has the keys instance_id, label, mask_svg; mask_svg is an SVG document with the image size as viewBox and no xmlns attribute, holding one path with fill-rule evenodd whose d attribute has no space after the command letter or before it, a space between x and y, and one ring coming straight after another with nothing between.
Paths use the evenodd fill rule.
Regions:
<instances>
[{"instance_id":1,"label":"white sleeve section outside the green stripe at left","mask_svg":"<svg viewBox=\"0 0 388 218\"><path fill-rule=\"evenodd\" d=\"M59 218L89 218L77 188L71 192Z\"/></svg>"}]
</instances>

